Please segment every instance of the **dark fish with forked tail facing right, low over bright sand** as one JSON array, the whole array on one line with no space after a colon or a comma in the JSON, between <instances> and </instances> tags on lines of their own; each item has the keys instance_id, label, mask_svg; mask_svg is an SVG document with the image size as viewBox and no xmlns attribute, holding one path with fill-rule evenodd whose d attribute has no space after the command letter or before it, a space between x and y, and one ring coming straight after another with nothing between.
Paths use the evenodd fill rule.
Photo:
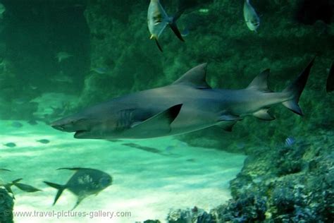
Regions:
<instances>
[{"instance_id":1,"label":"dark fish with forked tail facing right, low over bright sand","mask_svg":"<svg viewBox=\"0 0 334 223\"><path fill-rule=\"evenodd\" d=\"M59 169L69 169L75 171L75 174L70 177L68 182L65 185L60 185L57 183L51 183L44 181L47 185L58 189L56 198L54 198L53 205L56 204L58 198L61 196L64 190L68 189L70 192L75 194L78 197L77 203L72 210L77 207L81 201L89 195L97 195L99 192L111 186L113 181L112 177L109 174L106 174L103 171L98 169L89 169L89 168L59 168Z\"/></svg>"}]
</instances>

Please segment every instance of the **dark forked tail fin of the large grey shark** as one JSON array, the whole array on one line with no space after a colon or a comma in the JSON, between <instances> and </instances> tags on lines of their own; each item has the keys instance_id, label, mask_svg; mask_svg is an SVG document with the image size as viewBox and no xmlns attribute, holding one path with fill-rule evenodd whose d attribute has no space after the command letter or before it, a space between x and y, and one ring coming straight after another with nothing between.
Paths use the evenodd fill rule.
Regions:
<instances>
[{"instance_id":1,"label":"dark forked tail fin of the large grey shark","mask_svg":"<svg viewBox=\"0 0 334 223\"><path fill-rule=\"evenodd\" d=\"M304 90L304 87L307 83L307 79L309 78L309 73L311 71L311 67L314 64L315 57L309 62L306 68L304 68L304 71L299 74L299 76L283 90L283 92L290 93L290 100L287 100L283 102L283 105L287 107L287 109L290 109L291 111L295 112L296 114L299 114L300 116L303 115L302 109L299 107L299 97L302 95L302 92Z\"/></svg>"}]
</instances>

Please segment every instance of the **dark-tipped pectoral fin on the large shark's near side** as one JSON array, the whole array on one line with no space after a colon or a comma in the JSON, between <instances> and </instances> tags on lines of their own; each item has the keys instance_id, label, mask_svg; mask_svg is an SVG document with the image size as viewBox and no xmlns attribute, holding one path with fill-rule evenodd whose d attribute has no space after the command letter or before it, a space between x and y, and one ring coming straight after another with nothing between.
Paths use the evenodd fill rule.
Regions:
<instances>
[{"instance_id":1,"label":"dark-tipped pectoral fin on the large shark's near side","mask_svg":"<svg viewBox=\"0 0 334 223\"><path fill-rule=\"evenodd\" d=\"M141 123L135 123L132 128L127 130L146 133L147 131L171 131L171 123L178 116L183 104L176 104L165 111L161 111L159 114L152 116L151 118L142 121Z\"/></svg>"}]
</instances>

